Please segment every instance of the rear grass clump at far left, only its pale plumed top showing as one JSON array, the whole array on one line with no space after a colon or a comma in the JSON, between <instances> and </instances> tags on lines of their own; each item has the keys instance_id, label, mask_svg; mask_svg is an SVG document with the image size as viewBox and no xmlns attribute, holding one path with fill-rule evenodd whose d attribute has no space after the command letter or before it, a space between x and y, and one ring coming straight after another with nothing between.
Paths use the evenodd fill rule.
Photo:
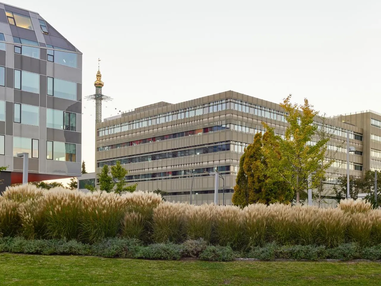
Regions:
<instances>
[{"instance_id":1,"label":"rear grass clump at far left, only its pale plumed top showing","mask_svg":"<svg viewBox=\"0 0 381 286\"><path fill-rule=\"evenodd\" d=\"M6 187L2 196L5 199L23 203L27 200L34 200L42 197L48 190L40 189L32 184Z\"/></svg>"}]
</instances>

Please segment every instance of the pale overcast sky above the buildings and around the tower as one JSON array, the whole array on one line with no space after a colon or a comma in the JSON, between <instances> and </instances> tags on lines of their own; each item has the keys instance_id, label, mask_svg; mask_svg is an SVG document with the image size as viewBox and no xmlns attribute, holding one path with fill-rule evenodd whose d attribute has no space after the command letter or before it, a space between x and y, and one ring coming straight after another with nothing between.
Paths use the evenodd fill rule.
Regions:
<instances>
[{"instance_id":1,"label":"pale overcast sky above the buildings and around the tower","mask_svg":"<svg viewBox=\"0 0 381 286\"><path fill-rule=\"evenodd\" d=\"M114 98L103 118L227 90L276 103L291 93L328 115L381 112L379 0L8 3L39 13L83 52L83 95L95 92L101 58L103 93ZM94 112L83 103L88 172Z\"/></svg>"}]
</instances>

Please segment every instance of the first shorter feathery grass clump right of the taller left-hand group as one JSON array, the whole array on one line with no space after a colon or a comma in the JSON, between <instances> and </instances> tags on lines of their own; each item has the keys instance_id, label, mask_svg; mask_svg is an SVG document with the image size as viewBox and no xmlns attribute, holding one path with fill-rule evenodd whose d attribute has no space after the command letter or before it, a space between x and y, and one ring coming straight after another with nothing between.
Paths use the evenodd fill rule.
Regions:
<instances>
[{"instance_id":1,"label":"first shorter feathery grass clump right of the taller left-hand group","mask_svg":"<svg viewBox=\"0 0 381 286\"><path fill-rule=\"evenodd\" d=\"M184 213L189 205L163 202L154 210L153 239L155 242L181 242L184 236Z\"/></svg>"}]
</instances>

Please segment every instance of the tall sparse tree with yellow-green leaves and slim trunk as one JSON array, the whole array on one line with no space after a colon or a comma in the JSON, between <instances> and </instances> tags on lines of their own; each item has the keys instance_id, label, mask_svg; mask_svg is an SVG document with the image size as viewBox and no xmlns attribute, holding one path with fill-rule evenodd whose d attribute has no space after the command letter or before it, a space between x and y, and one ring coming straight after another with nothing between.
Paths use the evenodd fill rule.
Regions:
<instances>
[{"instance_id":1,"label":"tall sparse tree with yellow-green leaves and slim trunk","mask_svg":"<svg viewBox=\"0 0 381 286\"><path fill-rule=\"evenodd\" d=\"M299 204L301 195L306 197L309 176L311 175L312 185L317 186L325 174L325 168L321 168L320 162L325 158L329 138L321 139L314 145L309 144L318 128L314 123L318 111L313 109L307 99L304 99L303 105L292 104L290 94L280 106L287 113L285 138L275 135L274 130L265 122L263 126L279 142L281 156L276 156L271 146L264 148L264 154L272 176L281 176L290 184L296 193L296 203Z\"/></svg>"}]
</instances>

